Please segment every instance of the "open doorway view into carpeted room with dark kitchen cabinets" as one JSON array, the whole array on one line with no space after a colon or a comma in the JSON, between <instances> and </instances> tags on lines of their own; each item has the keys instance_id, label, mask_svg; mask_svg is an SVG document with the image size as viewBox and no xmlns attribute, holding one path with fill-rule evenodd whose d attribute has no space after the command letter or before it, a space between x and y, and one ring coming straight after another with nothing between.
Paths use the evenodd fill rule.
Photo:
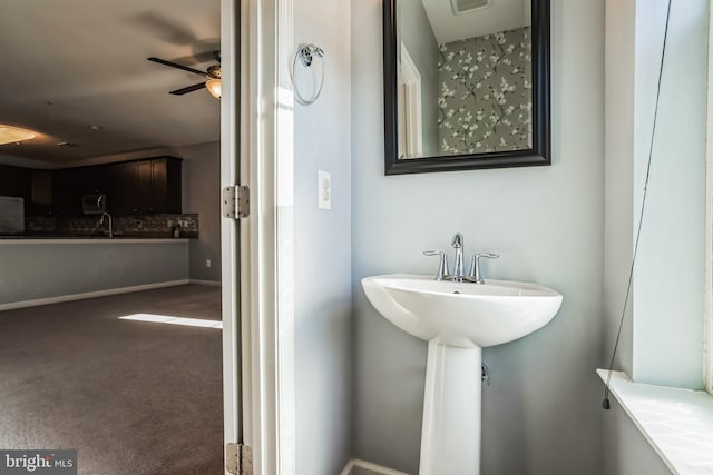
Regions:
<instances>
[{"instance_id":1,"label":"open doorway view into carpeted room with dark kitchen cabinets","mask_svg":"<svg viewBox=\"0 0 713 475\"><path fill-rule=\"evenodd\" d=\"M0 243L0 449L219 473L221 102L169 95L203 79L146 59L219 65L221 2L7 8L0 123L36 138L0 146L0 196L25 199L26 225ZM95 195L107 216L81 209Z\"/></svg>"}]
</instances>

